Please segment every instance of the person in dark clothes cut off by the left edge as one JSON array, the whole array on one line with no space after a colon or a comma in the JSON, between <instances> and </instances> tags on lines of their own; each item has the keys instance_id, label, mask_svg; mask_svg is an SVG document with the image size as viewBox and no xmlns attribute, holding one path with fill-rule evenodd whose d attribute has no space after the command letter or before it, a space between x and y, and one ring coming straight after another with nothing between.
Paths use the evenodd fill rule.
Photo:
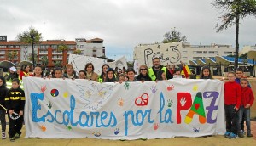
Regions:
<instances>
[{"instance_id":1,"label":"person in dark clothes cut off by the left edge","mask_svg":"<svg viewBox=\"0 0 256 146\"><path fill-rule=\"evenodd\" d=\"M5 107L5 96L8 93L8 88L6 87L6 81L3 76L0 76L0 121L2 126L2 139L6 138L6 119L5 119L5 113L6 110Z\"/></svg>"}]
</instances>

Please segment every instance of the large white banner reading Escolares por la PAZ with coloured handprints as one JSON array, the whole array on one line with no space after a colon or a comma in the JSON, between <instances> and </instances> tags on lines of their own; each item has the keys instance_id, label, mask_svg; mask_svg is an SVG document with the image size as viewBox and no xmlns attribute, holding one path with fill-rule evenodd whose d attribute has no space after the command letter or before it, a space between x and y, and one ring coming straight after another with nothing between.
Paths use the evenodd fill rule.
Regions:
<instances>
[{"instance_id":1,"label":"large white banner reading Escolares por la PAZ with coloured handprints","mask_svg":"<svg viewBox=\"0 0 256 146\"><path fill-rule=\"evenodd\" d=\"M23 81L26 138L173 138L225 132L222 81Z\"/></svg>"}]
</instances>

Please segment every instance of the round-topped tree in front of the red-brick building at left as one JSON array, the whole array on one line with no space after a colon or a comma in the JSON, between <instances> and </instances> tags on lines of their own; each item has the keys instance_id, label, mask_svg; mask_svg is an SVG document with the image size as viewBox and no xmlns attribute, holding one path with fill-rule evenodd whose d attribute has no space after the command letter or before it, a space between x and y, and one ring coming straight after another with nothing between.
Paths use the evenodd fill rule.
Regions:
<instances>
[{"instance_id":1,"label":"round-topped tree in front of the red-brick building at left","mask_svg":"<svg viewBox=\"0 0 256 146\"><path fill-rule=\"evenodd\" d=\"M32 26L29 27L28 31L24 31L17 35L17 39L19 42L29 43L32 44L32 64L35 67L35 53L34 53L34 44L38 44L42 41L43 37L42 34L38 32Z\"/></svg>"}]
</instances>

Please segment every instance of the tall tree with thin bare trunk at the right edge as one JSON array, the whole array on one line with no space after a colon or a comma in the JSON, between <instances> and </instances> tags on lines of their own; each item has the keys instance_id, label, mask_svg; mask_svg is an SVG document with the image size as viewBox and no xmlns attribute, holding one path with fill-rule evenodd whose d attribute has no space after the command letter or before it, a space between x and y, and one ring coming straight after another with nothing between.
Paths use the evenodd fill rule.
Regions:
<instances>
[{"instance_id":1,"label":"tall tree with thin bare trunk at the right edge","mask_svg":"<svg viewBox=\"0 0 256 146\"><path fill-rule=\"evenodd\" d=\"M217 32L226 30L232 25L236 25L236 54L235 54L235 69L238 66L238 51L239 51L239 24L240 20L247 15L256 16L256 1L255 0L215 0L212 5L221 9L224 13L218 17L216 25ZM221 20L221 22L219 22ZM220 24L221 23L221 24Z\"/></svg>"}]
</instances>

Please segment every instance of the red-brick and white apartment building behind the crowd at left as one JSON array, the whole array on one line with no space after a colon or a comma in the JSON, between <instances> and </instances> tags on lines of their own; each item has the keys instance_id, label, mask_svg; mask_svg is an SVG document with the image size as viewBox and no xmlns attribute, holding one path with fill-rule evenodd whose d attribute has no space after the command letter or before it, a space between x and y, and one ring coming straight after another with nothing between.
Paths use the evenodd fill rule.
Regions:
<instances>
[{"instance_id":1,"label":"red-brick and white apartment building behind the crowd at left","mask_svg":"<svg viewBox=\"0 0 256 146\"><path fill-rule=\"evenodd\" d=\"M67 64L69 54L80 49L82 54L93 57L105 57L103 40L95 38L91 40L76 39L76 41L47 40L34 44L35 63L53 67L57 62ZM67 50L60 51L60 45L67 46ZM18 41L7 41L7 36L0 36L0 61L9 60L18 65L20 61L32 62L32 44Z\"/></svg>"}]
</instances>

